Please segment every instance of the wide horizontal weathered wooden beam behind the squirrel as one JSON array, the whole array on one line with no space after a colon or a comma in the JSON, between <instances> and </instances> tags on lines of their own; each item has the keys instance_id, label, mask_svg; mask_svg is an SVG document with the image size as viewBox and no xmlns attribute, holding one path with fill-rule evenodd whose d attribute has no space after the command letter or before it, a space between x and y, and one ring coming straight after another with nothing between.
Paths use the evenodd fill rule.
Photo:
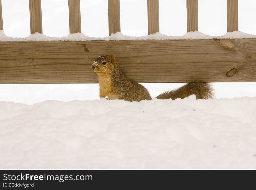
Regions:
<instances>
[{"instance_id":1,"label":"wide horizontal weathered wooden beam behind the squirrel","mask_svg":"<svg viewBox=\"0 0 256 190\"><path fill-rule=\"evenodd\" d=\"M256 39L0 42L0 84L97 83L114 53L136 82L256 82Z\"/></svg>"}]
</instances>

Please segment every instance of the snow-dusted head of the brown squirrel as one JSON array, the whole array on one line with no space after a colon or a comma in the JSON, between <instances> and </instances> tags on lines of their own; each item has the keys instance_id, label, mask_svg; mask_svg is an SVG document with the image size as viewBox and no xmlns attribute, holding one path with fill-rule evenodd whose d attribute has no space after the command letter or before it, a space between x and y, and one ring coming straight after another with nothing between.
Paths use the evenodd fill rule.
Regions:
<instances>
[{"instance_id":1,"label":"snow-dusted head of the brown squirrel","mask_svg":"<svg viewBox=\"0 0 256 190\"><path fill-rule=\"evenodd\" d=\"M99 74L109 74L112 73L114 68L118 67L118 63L115 60L115 55L106 55L105 53L102 56L99 56L92 64L92 69L95 73Z\"/></svg>"}]
</instances>

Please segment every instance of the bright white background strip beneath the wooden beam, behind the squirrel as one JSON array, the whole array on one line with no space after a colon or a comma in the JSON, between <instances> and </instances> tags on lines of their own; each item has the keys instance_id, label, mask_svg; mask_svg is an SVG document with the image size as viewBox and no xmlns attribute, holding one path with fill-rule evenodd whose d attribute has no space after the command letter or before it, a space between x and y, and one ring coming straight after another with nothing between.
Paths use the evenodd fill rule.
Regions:
<instances>
[{"instance_id":1,"label":"bright white background strip beneath the wooden beam, behind the squirrel","mask_svg":"<svg viewBox=\"0 0 256 190\"><path fill-rule=\"evenodd\" d=\"M147 88L151 97L156 97L186 83L140 84ZM214 82L211 85L216 98L256 96L256 82ZM83 101L99 99L99 84L0 84L0 92L0 101L28 105L51 99L63 102L74 99Z\"/></svg>"}]
</instances>

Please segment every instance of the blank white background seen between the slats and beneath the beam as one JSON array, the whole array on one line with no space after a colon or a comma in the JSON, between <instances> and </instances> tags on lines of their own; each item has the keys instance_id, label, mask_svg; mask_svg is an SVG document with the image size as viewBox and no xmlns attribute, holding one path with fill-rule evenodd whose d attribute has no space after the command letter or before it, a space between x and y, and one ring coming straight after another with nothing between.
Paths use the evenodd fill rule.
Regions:
<instances>
[{"instance_id":1,"label":"blank white background seen between the slats and beneath the beam","mask_svg":"<svg viewBox=\"0 0 256 190\"><path fill-rule=\"evenodd\" d=\"M69 34L67 0L41 0L43 34ZM92 37L108 35L107 0L81 0L82 33ZM256 1L239 0L239 30L256 34ZM2 0L3 29L10 37L30 35L29 0ZM129 36L147 35L147 0L120 0L121 32ZM160 32L186 33L186 0L159 0ZM226 32L226 0L198 0L198 28L207 35ZM179 84L144 84L152 97ZM256 96L256 83L214 83L216 97ZM89 92L90 89L90 92ZM224 90L225 89L225 90ZM65 92L65 96L61 95ZM97 84L0 85L0 101L33 104L46 99L98 99ZM15 92L15 96L11 96ZM41 94L40 94L41 93ZM54 94L53 94L54 93Z\"/></svg>"}]
</instances>

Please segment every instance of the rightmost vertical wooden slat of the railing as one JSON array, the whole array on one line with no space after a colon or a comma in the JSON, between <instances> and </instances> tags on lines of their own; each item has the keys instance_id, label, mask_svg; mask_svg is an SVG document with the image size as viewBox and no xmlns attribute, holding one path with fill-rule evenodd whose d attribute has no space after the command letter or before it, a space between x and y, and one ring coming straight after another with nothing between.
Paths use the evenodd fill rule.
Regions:
<instances>
[{"instance_id":1,"label":"rightmost vertical wooden slat of the railing","mask_svg":"<svg viewBox=\"0 0 256 190\"><path fill-rule=\"evenodd\" d=\"M238 30L238 0L227 0L227 32Z\"/></svg>"}]
</instances>

